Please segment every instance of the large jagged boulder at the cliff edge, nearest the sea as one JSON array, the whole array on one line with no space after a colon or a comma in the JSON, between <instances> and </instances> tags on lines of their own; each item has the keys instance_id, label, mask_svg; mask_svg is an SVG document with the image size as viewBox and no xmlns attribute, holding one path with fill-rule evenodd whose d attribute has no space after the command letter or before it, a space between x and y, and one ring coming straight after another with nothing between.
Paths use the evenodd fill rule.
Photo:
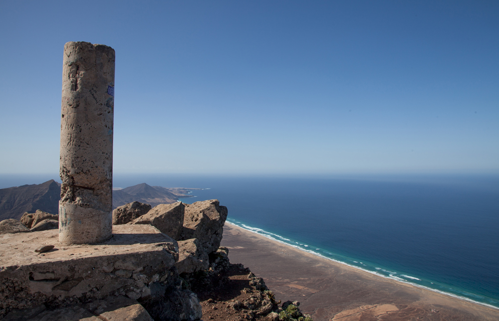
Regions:
<instances>
[{"instance_id":1,"label":"large jagged boulder at the cliff edge, nearest the sea","mask_svg":"<svg viewBox=\"0 0 499 321\"><path fill-rule=\"evenodd\" d=\"M220 247L226 219L227 207L220 206L218 199L186 204L180 240L196 238L206 253L215 252Z\"/></svg>"}]
</instances>

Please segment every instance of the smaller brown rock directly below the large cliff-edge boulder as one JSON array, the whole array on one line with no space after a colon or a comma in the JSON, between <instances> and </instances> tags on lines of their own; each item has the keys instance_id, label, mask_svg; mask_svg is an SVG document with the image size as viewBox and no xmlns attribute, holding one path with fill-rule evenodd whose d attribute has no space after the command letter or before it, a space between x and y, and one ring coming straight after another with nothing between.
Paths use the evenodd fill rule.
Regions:
<instances>
[{"instance_id":1,"label":"smaller brown rock directly below the large cliff-edge boulder","mask_svg":"<svg viewBox=\"0 0 499 321\"><path fill-rule=\"evenodd\" d=\"M208 254L200 251L198 239L179 241L179 260L175 263L179 274L206 270L210 266Z\"/></svg>"}]
</instances>

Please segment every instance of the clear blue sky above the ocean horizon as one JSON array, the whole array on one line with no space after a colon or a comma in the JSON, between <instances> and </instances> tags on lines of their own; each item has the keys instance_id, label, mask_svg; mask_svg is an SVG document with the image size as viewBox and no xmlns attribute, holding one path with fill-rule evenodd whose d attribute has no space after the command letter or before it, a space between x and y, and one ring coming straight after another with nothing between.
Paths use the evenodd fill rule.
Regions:
<instances>
[{"instance_id":1,"label":"clear blue sky above the ocean horizon","mask_svg":"<svg viewBox=\"0 0 499 321\"><path fill-rule=\"evenodd\" d=\"M499 172L499 1L0 0L0 173L58 173L67 41L115 173Z\"/></svg>"}]
</instances>

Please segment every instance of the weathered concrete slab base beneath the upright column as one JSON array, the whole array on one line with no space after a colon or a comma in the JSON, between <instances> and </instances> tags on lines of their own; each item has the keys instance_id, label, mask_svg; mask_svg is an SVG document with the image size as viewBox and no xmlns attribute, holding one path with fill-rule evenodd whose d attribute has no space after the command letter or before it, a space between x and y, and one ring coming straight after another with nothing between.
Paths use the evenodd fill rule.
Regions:
<instances>
[{"instance_id":1,"label":"weathered concrete slab base beneath the upright column","mask_svg":"<svg viewBox=\"0 0 499 321\"><path fill-rule=\"evenodd\" d=\"M110 240L93 245L57 239L57 230L0 236L0 318L47 302L148 298L178 259L177 242L150 225L115 225ZM42 245L55 248L34 252Z\"/></svg>"}]
</instances>

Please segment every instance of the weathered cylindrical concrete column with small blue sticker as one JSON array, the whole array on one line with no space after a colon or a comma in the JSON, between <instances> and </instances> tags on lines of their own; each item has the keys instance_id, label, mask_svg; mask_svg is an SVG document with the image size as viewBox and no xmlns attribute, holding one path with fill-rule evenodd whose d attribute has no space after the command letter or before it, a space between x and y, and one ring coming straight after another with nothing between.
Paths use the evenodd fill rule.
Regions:
<instances>
[{"instance_id":1,"label":"weathered cylindrical concrete column with small blue sticker","mask_svg":"<svg viewBox=\"0 0 499 321\"><path fill-rule=\"evenodd\" d=\"M70 41L62 67L59 242L112 236L114 49Z\"/></svg>"}]
</instances>

